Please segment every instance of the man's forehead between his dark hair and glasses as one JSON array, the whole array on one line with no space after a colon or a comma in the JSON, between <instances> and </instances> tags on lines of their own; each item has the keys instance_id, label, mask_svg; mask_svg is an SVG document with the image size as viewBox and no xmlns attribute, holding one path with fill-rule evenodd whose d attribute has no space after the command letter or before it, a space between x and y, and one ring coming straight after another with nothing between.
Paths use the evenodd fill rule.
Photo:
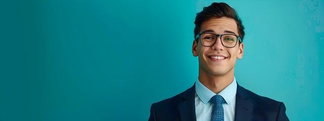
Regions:
<instances>
[{"instance_id":1,"label":"man's forehead between his dark hair and glasses","mask_svg":"<svg viewBox=\"0 0 324 121\"><path fill-rule=\"evenodd\" d=\"M234 19L222 17L222 18L211 18L201 24L200 33L206 30L212 30L216 34L223 34L226 31L234 32L238 35L237 24Z\"/></svg>"}]
</instances>

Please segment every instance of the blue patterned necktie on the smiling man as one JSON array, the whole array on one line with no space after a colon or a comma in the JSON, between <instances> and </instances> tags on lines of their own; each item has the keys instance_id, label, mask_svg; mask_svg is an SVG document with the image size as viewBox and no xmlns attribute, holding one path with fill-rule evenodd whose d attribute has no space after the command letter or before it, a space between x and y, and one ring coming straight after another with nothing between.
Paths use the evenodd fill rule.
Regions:
<instances>
[{"instance_id":1,"label":"blue patterned necktie on the smiling man","mask_svg":"<svg viewBox=\"0 0 324 121\"><path fill-rule=\"evenodd\" d=\"M224 108L223 101L224 98L221 95L215 95L211 98L214 103L211 121L224 121Z\"/></svg>"}]
</instances>

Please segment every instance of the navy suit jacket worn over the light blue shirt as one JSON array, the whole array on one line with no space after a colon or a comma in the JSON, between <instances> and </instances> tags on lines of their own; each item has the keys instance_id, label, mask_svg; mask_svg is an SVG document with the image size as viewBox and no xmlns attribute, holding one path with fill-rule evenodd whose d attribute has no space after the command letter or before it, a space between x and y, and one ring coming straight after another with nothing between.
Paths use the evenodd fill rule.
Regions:
<instances>
[{"instance_id":1,"label":"navy suit jacket worn over the light blue shirt","mask_svg":"<svg viewBox=\"0 0 324 121\"><path fill-rule=\"evenodd\" d=\"M195 85L186 91L153 103L148 120L196 120ZM289 120L282 102L257 95L237 84L235 121Z\"/></svg>"}]
</instances>

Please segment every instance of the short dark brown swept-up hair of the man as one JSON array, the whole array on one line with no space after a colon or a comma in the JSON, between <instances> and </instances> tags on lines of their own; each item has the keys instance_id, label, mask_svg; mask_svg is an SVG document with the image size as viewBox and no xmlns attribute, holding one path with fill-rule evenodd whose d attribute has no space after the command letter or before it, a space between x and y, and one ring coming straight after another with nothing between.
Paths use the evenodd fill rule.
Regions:
<instances>
[{"instance_id":1,"label":"short dark brown swept-up hair of the man","mask_svg":"<svg viewBox=\"0 0 324 121\"><path fill-rule=\"evenodd\" d=\"M204 7L203 11L197 13L196 19L194 21L195 24L194 31L193 31L194 37L196 37L199 34L199 31L201 29L201 24L213 17L216 18L228 17L234 19L237 24L238 35L243 42L245 32L244 32L244 26L242 25L242 21L238 17L237 12L225 3L213 3L208 7Z\"/></svg>"}]
</instances>

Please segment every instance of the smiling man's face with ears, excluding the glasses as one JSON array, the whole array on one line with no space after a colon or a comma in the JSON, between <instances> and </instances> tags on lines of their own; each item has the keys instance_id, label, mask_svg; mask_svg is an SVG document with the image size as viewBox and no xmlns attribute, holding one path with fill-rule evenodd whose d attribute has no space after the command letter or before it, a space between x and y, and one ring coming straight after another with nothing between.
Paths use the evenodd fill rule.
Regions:
<instances>
[{"instance_id":1,"label":"smiling man's face with ears, excluding the glasses","mask_svg":"<svg viewBox=\"0 0 324 121\"><path fill-rule=\"evenodd\" d=\"M199 33L206 31L215 34L238 35L235 20L227 17L211 18L203 22ZM242 58L243 50L243 43L238 45L238 42L233 48L224 47L220 37L217 38L213 46L203 46L200 40L194 40L192 44L192 54L198 56L199 73L210 76L224 76L231 72L234 73L236 58Z\"/></svg>"}]
</instances>

